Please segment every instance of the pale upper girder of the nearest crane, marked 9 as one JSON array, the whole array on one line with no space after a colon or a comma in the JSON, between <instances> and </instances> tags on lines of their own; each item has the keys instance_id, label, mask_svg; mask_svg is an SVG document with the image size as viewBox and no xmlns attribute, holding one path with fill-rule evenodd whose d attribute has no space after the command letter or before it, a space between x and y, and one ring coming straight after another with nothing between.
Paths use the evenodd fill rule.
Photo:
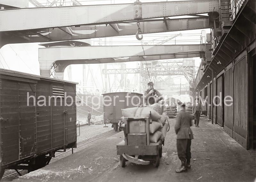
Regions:
<instances>
[{"instance_id":1,"label":"pale upper girder of the nearest crane, marked 9","mask_svg":"<svg viewBox=\"0 0 256 182\"><path fill-rule=\"evenodd\" d=\"M132 21L133 6L132 3L1 10L0 32ZM142 19L214 11L219 12L218 0L142 3Z\"/></svg>"}]
</instances>

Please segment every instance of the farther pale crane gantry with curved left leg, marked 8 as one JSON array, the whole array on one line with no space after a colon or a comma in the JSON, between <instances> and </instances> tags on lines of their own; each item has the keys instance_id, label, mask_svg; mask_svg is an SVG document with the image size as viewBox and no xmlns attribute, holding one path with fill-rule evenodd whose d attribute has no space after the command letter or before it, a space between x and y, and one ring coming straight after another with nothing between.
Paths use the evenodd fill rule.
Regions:
<instances>
[{"instance_id":1,"label":"farther pale crane gantry with curved left leg, marked 8","mask_svg":"<svg viewBox=\"0 0 256 182\"><path fill-rule=\"evenodd\" d=\"M143 50L144 49L144 50ZM39 48L40 73L50 76L52 65L61 72L70 64L92 64L110 62L146 61L199 57L205 46L157 45L157 46L85 46ZM58 77L59 79L61 79Z\"/></svg>"}]
</instances>

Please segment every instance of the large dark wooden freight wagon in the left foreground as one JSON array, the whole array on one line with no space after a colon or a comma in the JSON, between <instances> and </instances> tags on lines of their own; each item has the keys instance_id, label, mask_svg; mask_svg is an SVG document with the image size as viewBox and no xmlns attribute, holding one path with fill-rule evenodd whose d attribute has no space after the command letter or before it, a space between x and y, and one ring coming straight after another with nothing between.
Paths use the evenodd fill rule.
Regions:
<instances>
[{"instance_id":1,"label":"large dark wooden freight wagon in the left foreground","mask_svg":"<svg viewBox=\"0 0 256 182\"><path fill-rule=\"evenodd\" d=\"M0 69L0 179L76 147L75 98L76 83Z\"/></svg>"}]
</instances>

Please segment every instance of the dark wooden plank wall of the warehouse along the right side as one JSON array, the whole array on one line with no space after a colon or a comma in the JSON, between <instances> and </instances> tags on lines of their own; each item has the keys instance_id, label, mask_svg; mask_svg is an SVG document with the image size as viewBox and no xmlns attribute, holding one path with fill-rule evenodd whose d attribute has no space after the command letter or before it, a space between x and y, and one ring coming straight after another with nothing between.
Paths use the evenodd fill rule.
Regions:
<instances>
[{"instance_id":1,"label":"dark wooden plank wall of the warehouse along the right side","mask_svg":"<svg viewBox=\"0 0 256 182\"><path fill-rule=\"evenodd\" d=\"M213 123L224 127L224 131L246 149L249 149L248 131L250 129L248 106L249 102L253 102L248 100L248 77L250 76L248 68L247 53L242 52L234 62L227 65L214 78L213 84L210 82L207 85L208 118L213 116ZM211 95L211 87L213 87L213 96ZM202 98L206 96L204 90L205 88L199 91L199 93L202 93ZM214 96L220 96L220 99L215 98L213 100ZM231 106L224 105L226 96L233 98ZM211 106L209 106L211 102L216 104L221 102L221 106L213 106L213 113L211 113ZM232 102L226 103L230 104Z\"/></svg>"}]
</instances>

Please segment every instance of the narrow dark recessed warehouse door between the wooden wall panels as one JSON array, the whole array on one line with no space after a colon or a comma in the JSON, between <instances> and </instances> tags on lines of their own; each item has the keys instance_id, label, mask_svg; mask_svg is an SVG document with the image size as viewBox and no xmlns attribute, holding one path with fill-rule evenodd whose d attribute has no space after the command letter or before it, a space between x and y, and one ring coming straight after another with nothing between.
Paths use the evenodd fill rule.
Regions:
<instances>
[{"instance_id":1,"label":"narrow dark recessed warehouse door between the wooden wall panels","mask_svg":"<svg viewBox=\"0 0 256 182\"><path fill-rule=\"evenodd\" d=\"M217 93L216 98L216 112L217 112L217 123L223 127L223 75L217 79Z\"/></svg>"}]
</instances>

